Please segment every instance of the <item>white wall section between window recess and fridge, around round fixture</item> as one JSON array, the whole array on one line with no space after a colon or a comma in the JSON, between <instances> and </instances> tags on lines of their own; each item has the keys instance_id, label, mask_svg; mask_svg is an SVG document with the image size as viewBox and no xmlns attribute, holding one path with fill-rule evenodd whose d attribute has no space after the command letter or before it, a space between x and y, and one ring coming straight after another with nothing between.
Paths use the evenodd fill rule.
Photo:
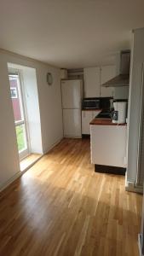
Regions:
<instances>
[{"instance_id":1,"label":"white wall section between window recess and fridge, around round fixture","mask_svg":"<svg viewBox=\"0 0 144 256\"><path fill-rule=\"evenodd\" d=\"M46 82L46 73L53 73L54 83L49 86ZM43 67L37 72L39 106L41 115L41 130L43 153L63 137L62 111L60 96L60 69Z\"/></svg>"}]
</instances>

